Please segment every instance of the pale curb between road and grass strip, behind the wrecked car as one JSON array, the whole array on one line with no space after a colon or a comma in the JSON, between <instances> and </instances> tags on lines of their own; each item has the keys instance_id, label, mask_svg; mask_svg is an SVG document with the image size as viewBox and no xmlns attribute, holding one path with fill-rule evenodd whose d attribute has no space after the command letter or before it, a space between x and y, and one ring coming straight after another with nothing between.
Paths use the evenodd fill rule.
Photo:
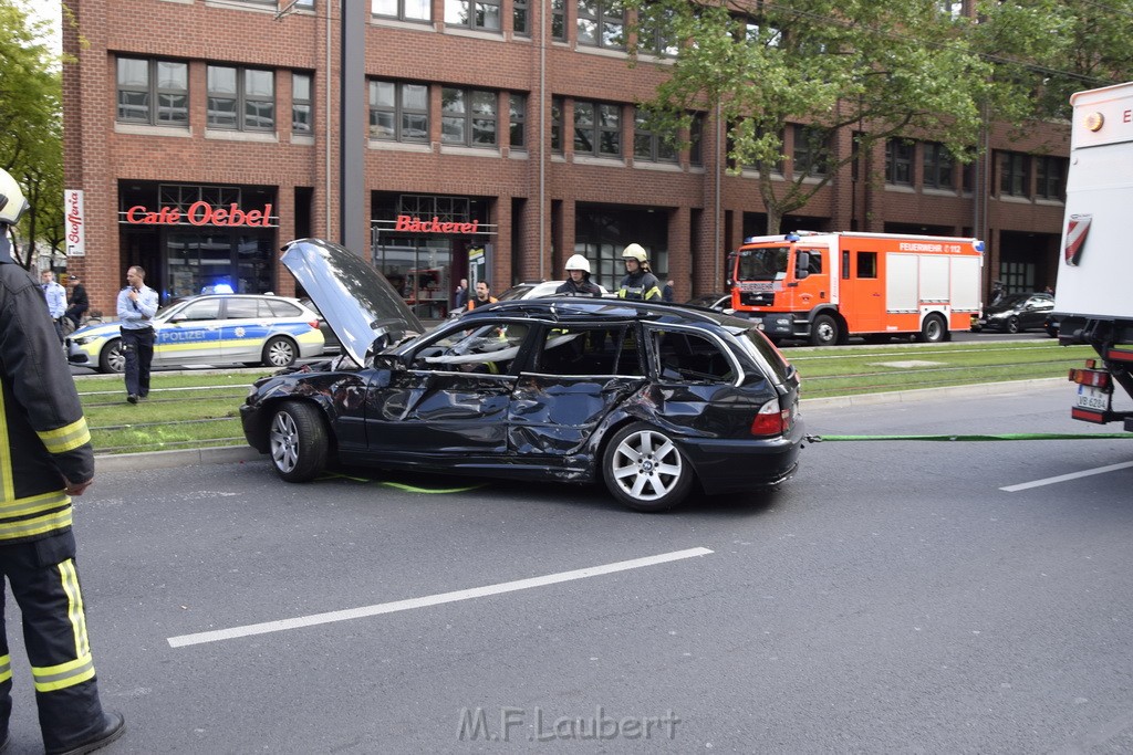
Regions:
<instances>
[{"instance_id":1,"label":"pale curb between road and grass strip, behind the wrecked car","mask_svg":"<svg viewBox=\"0 0 1133 755\"><path fill-rule=\"evenodd\" d=\"M876 406L879 404L903 404L928 398L964 396L991 396L1011 393L1028 393L1036 388L1066 383L1066 378L1039 378L1013 380L1010 383L986 383L981 385L957 385L945 388L917 388L869 393L860 396L832 396L829 398L803 398L803 409L838 409L851 406ZM265 454L250 446L220 446L218 448L188 448L185 451L153 451L140 454L103 454L94 457L99 472L133 472L139 469L168 469L172 466L198 466L201 464L242 464L263 458Z\"/></svg>"}]
</instances>

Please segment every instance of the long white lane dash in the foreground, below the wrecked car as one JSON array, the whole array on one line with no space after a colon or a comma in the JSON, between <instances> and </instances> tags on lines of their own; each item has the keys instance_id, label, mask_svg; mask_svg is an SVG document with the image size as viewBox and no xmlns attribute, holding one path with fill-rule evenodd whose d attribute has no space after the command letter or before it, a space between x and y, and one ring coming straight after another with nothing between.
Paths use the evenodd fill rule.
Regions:
<instances>
[{"instance_id":1,"label":"long white lane dash in the foreground, below the wrecked car","mask_svg":"<svg viewBox=\"0 0 1133 755\"><path fill-rule=\"evenodd\" d=\"M530 587L543 587L548 584L560 582L571 582L572 580L585 580L587 577L613 574L615 572L627 572L639 569L657 564L667 564L684 558L696 556L707 556L713 551L707 548L690 548L688 550L675 550L670 554L657 556L646 556L634 558L629 561L617 561L615 564L604 564L602 566L589 566L585 569L573 572L560 572L547 574L540 577L529 577L527 580L516 580L514 582L502 582L489 584L483 587L471 587L469 590L457 590L454 592L442 592L436 595L425 595L424 598L410 598L408 600L397 600L391 603L377 603L375 606L363 606L361 608L349 608L341 611L327 611L325 614L313 614L312 616L298 616L291 619L280 619L278 621L264 621L263 624L248 624L242 627L231 627L229 629L216 629L214 632L199 632L197 634L182 634L177 637L169 637L170 647L184 647L186 645L201 645L207 642L221 642L223 640L235 640L236 637L247 637L254 634L270 634L272 632L284 632L299 627L309 627L318 624L331 624L333 621L347 621L366 616L378 616L381 614L395 614L408 611L415 608L426 608L428 606L440 606L441 603L452 603L459 600L470 600L472 598L485 598L487 595L499 595L517 590L528 590Z\"/></svg>"}]
</instances>

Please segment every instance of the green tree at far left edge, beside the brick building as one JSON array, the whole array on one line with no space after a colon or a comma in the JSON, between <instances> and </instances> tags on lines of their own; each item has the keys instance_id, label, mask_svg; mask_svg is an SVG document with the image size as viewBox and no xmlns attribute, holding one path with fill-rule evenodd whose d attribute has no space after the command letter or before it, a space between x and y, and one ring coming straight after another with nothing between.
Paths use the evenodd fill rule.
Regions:
<instances>
[{"instance_id":1,"label":"green tree at far left edge, beside the brick building","mask_svg":"<svg viewBox=\"0 0 1133 755\"><path fill-rule=\"evenodd\" d=\"M44 23L31 20L14 0L0 0L0 168L32 205L17 228L28 242L24 267L37 241L58 250L63 237L62 76L46 35Z\"/></svg>"}]
</instances>

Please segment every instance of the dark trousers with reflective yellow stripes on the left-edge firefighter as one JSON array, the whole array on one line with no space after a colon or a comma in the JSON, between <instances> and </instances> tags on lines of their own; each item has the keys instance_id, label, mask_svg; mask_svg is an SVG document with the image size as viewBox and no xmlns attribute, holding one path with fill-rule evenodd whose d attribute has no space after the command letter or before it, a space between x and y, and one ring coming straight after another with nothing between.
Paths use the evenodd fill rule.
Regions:
<instances>
[{"instance_id":1,"label":"dark trousers with reflective yellow stripes on the left-edge firefighter","mask_svg":"<svg viewBox=\"0 0 1133 755\"><path fill-rule=\"evenodd\" d=\"M62 749L103 727L75 537L70 531L32 542L0 544L0 575L7 577L24 620L43 745ZM11 715L11 657L0 583L0 741Z\"/></svg>"}]
</instances>

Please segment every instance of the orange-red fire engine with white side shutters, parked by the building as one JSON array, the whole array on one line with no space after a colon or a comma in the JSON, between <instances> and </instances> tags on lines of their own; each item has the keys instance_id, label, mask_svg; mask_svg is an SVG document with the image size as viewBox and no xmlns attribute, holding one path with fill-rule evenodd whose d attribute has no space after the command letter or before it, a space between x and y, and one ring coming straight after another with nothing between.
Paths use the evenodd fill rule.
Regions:
<instances>
[{"instance_id":1,"label":"orange-red fire engine with white side shutters, parked by the building","mask_svg":"<svg viewBox=\"0 0 1133 755\"><path fill-rule=\"evenodd\" d=\"M772 340L815 345L947 341L980 311L982 268L977 239L812 231L749 238L729 264L732 309Z\"/></svg>"}]
</instances>

